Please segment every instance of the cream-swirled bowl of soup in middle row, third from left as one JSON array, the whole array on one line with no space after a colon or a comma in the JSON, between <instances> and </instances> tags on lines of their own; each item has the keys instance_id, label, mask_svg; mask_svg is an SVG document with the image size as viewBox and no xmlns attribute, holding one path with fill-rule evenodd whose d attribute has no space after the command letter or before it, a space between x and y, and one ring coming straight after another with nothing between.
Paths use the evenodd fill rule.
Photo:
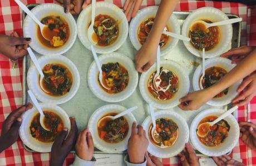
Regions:
<instances>
[{"instance_id":1,"label":"cream-swirled bowl of soup in middle row, third from left","mask_svg":"<svg viewBox=\"0 0 256 166\"><path fill-rule=\"evenodd\" d=\"M151 103L156 108L178 106L179 99L189 91L188 72L172 60L161 60L160 66L160 74L155 82L156 64L141 74L141 95L147 103Z\"/></svg>"}]
</instances>

